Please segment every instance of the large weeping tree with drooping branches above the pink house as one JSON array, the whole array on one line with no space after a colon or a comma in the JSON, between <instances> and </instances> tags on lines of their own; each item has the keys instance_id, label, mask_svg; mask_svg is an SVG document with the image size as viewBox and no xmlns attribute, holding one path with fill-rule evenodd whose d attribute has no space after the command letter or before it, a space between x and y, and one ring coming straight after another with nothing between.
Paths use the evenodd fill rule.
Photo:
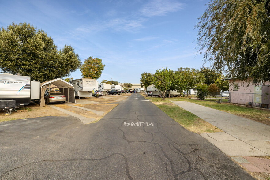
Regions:
<instances>
[{"instance_id":1,"label":"large weeping tree with drooping branches above the pink house","mask_svg":"<svg viewBox=\"0 0 270 180\"><path fill-rule=\"evenodd\" d=\"M198 28L198 52L228 77L270 80L269 0L210 0Z\"/></svg>"}]
</instances>

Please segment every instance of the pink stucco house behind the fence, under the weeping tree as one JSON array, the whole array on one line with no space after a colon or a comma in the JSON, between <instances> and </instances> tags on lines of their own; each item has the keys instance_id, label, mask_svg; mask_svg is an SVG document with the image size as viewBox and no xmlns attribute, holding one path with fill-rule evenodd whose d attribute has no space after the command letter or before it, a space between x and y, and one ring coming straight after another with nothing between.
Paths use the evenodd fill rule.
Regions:
<instances>
[{"instance_id":1,"label":"pink stucco house behind the fence, under the weeping tree","mask_svg":"<svg viewBox=\"0 0 270 180\"><path fill-rule=\"evenodd\" d=\"M244 104L269 108L270 82L253 84L249 78L247 81L230 78L229 92L230 103Z\"/></svg>"}]
</instances>

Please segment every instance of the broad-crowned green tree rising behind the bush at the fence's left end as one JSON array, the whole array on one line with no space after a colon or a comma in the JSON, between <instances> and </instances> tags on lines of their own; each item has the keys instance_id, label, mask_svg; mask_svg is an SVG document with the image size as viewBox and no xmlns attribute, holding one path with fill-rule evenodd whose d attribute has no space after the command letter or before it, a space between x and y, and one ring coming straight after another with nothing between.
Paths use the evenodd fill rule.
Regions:
<instances>
[{"instance_id":1,"label":"broad-crowned green tree rising behind the bush at the fence's left end","mask_svg":"<svg viewBox=\"0 0 270 180\"><path fill-rule=\"evenodd\" d=\"M190 88L194 88L195 84L202 83L205 81L204 74L199 73L195 68L178 68L179 73L182 77L185 77L186 87L185 91L188 92ZM188 93L187 93L188 96Z\"/></svg>"}]
</instances>

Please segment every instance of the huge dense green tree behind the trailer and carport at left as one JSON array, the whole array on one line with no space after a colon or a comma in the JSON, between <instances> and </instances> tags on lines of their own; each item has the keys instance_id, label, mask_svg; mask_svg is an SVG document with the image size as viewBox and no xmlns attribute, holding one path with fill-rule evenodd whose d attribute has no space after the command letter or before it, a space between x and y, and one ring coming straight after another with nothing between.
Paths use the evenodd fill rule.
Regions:
<instances>
[{"instance_id":1,"label":"huge dense green tree behind the trailer and carport at left","mask_svg":"<svg viewBox=\"0 0 270 180\"><path fill-rule=\"evenodd\" d=\"M79 55L65 45L59 51L43 30L27 23L0 28L0 69L48 81L69 76L80 66Z\"/></svg>"}]
</instances>

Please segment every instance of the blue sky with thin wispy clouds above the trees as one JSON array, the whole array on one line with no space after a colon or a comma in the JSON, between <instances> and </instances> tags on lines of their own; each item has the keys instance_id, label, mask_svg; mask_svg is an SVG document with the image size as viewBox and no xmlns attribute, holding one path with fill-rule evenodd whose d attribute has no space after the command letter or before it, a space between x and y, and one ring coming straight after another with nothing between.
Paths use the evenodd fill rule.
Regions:
<instances>
[{"instance_id":1,"label":"blue sky with thin wispy clouds above the trees","mask_svg":"<svg viewBox=\"0 0 270 180\"><path fill-rule=\"evenodd\" d=\"M0 0L0 26L27 22L43 29L58 49L71 45L81 61L102 59L101 78L140 83L141 73L203 66L196 56L197 18L208 0ZM209 66L206 63L205 66ZM70 77L81 78L80 70Z\"/></svg>"}]
</instances>

